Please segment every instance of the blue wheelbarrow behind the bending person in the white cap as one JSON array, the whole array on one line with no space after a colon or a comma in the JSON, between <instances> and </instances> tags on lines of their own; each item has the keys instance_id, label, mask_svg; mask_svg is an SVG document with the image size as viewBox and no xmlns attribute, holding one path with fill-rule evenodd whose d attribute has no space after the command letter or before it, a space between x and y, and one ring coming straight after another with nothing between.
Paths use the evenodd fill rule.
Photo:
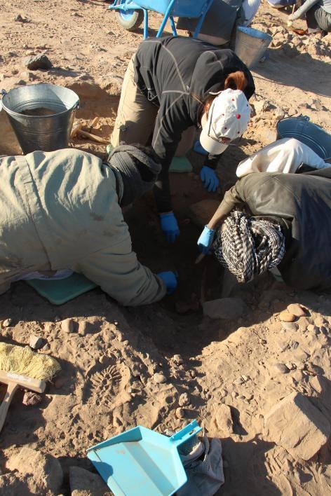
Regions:
<instances>
[{"instance_id":1,"label":"blue wheelbarrow behind the bending person in the white cap","mask_svg":"<svg viewBox=\"0 0 331 496\"><path fill-rule=\"evenodd\" d=\"M173 35L177 36L174 17L198 18L198 24L193 37L198 36L205 14L213 0L115 0L108 7L109 11L116 11L119 24L128 31L135 31L144 21L144 39L148 38L148 11L163 14L161 26L156 37L163 33L165 24L169 20Z\"/></svg>"}]
</instances>

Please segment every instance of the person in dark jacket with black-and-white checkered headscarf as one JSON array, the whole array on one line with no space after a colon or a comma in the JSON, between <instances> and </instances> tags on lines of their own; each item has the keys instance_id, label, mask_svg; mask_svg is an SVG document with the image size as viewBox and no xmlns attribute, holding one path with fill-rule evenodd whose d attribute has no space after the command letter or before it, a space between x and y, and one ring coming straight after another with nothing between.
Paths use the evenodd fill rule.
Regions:
<instances>
[{"instance_id":1,"label":"person in dark jacket with black-and-white checkered headscarf","mask_svg":"<svg viewBox=\"0 0 331 496\"><path fill-rule=\"evenodd\" d=\"M249 282L275 271L297 289L331 287L331 167L252 172L224 195L199 237L201 252ZM215 240L215 241L214 241Z\"/></svg>"}]
</instances>

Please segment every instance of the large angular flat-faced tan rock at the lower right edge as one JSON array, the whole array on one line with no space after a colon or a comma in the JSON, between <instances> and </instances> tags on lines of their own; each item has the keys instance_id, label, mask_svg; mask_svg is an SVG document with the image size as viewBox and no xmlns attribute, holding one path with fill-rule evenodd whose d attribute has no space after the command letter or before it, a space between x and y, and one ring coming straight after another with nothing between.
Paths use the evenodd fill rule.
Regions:
<instances>
[{"instance_id":1,"label":"large angular flat-faced tan rock at the lower right edge","mask_svg":"<svg viewBox=\"0 0 331 496\"><path fill-rule=\"evenodd\" d=\"M266 436L290 455L310 460L330 436L330 422L309 399L292 392L264 417Z\"/></svg>"}]
</instances>

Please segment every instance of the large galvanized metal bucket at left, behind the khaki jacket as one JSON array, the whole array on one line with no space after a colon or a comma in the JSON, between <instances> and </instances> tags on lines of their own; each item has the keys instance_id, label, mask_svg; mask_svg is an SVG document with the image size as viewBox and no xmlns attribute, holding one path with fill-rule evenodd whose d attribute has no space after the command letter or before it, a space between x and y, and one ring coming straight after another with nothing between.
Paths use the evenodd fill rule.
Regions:
<instances>
[{"instance_id":1,"label":"large galvanized metal bucket at left, behind the khaki jacket","mask_svg":"<svg viewBox=\"0 0 331 496\"><path fill-rule=\"evenodd\" d=\"M7 113L23 153L68 146L79 106L74 91L52 84L34 84L1 93L0 110L2 107Z\"/></svg>"}]
</instances>

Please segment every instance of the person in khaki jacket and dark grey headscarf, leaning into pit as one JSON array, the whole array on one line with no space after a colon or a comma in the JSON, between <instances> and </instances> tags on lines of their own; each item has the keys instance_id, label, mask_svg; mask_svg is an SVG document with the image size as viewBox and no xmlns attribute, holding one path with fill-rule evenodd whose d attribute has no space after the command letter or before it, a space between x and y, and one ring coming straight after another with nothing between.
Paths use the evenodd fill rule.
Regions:
<instances>
[{"instance_id":1,"label":"person in khaki jacket and dark grey headscarf, leaning into pit","mask_svg":"<svg viewBox=\"0 0 331 496\"><path fill-rule=\"evenodd\" d=\"M174 273L154 275L137 261L121 210L153 188L154 157L119 146L108 162L76 149L0 158L0 294L31 273L67 269L123 305L173 291Z\"/></svg>"}]
</instances>

